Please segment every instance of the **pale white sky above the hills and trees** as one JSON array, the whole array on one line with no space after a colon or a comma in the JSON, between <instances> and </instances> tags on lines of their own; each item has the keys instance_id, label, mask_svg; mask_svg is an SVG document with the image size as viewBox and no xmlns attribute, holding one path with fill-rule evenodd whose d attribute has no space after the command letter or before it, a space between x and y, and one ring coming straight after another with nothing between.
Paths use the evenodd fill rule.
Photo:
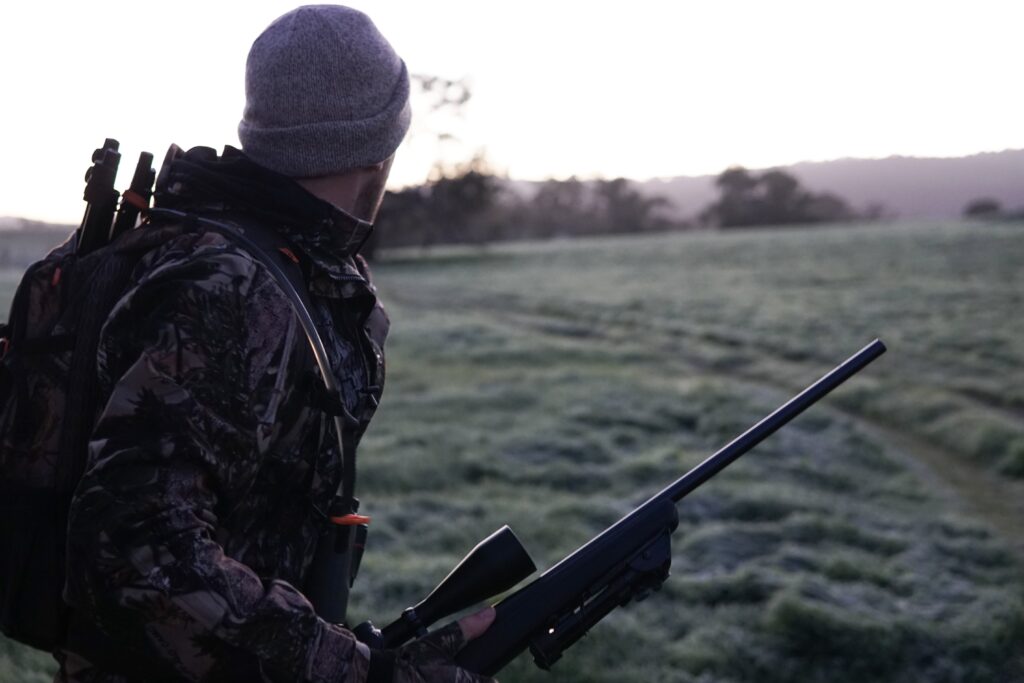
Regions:
<instances>
[{"instance_id":1,"label":"pale white sky above the hills and trees","mask_svg":"<svg viewBox=\"0 0 1024 683\"><path fill-rule=\"evenodd\" d=\"M378 0L410 72L467 78L457 130L513 178L717 173L1024 147L1024 2ZM6 2L0 216L81 219L104 137L124 153L238 144L249 45L295 4ZM417 114L419 116L417 117ZM395 186L437 146L423 112Z\"/></svg>"}]
</instances>

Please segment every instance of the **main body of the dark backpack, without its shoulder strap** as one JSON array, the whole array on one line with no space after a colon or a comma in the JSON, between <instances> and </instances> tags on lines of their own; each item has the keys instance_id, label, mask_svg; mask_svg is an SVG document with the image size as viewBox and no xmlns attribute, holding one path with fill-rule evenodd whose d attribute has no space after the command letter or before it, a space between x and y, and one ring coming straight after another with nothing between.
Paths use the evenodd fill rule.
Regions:
<instances>
[{"instance_id":1,"label":"main body of the dark backpack, without its shoulder strap","mask_svg":"<svg viewBox=\"0 0 1024 683\"><path fill-rule=\"evenodd\" d=\"M65 529L96 417L99 330L147 251L123 242L79 257L69 240L31 265L0 330L0 630L41 649L62 631Z\"/></svg>"}]
</instances>

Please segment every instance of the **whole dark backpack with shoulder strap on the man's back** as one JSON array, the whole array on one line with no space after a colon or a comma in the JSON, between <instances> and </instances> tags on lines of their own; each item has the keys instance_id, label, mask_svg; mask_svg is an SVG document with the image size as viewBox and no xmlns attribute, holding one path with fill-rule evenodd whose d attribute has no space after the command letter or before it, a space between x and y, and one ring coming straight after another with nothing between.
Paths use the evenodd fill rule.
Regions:
<instances>
[{"instance_id":1,"label":"whole dark backpack with shoulder strap on the man's back","mask_svg":"<svg viewBox=\"0 0 1024 683\"><path fill-rule=\"evenodd\" d=\"M97 155L102 151L97 150ZM176 152L172 145L169 159ZM103 181L113 184L113 174L106 175ZM147 177L152 183L152 171ZM133 190L140 189L136 184L133 181ZM86 199L90 199L88 189ZM148 194L143 199L147 205ZM135 216L131 216L132 225L120 233L115 229L115 237L106 242L113 214L110 207L105 212L95 208L93 201L83 226L29 266L8 321L0 324L0 631L49 651L60 646L66 633L69 612L61 594L68 513L84 472L89 435L102 408L96 377L100 331L140 259L168 240L188 230L215 230L238 242L278 281L312 347L326 385L322 408L336 421L344 477L354 480L354 443L349 433L354 418L344 410L334 377L324 365L328 353L309 316L311 305L302 273L292 260L295 257L280 246L281 239L270 230L254 229L249 231L254 241L215 221L154 209L151 215L172 220L134 227ZM91 251L84 251L81 245L90 212L93 221L104 228L104 239L93 239ZM118 213L119 222L127 220ZM357 503L349 501L348 505ZM328 530L334 532L335 525L328 525ZM337 530L348 531L341 526ZM333 538L325 539L325 547L335 547ZM335 558L344 565L340 579L346 585L351 584L350 556L347 550Z\"/></svg>"}]
</instances>

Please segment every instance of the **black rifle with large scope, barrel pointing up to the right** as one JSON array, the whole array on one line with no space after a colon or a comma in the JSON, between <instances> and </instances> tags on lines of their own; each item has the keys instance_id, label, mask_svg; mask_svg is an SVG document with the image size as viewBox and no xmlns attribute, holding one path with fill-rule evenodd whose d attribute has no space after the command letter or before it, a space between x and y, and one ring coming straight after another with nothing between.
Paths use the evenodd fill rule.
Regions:
<instances>
[{"instance_id":1,"label":"black rifle with large scope, barrel pointing up to the right","mask_svg":"<svg viewBox=\"0 0 1024 683\"><path fill-rule=\"evenodd\" d=\"M672 563L678 503L721 470L882 355L874 340L726 446L572 552L534 582L501 600L490 628L456 656L460 667L494 676L527 647L541 669L615 607L660 588ZM500 569L500 570L496 570ZM420 604L378 631L356 635L372 647L397 647L436 620L515 586L534 563L508 527L481 542Z\"/></svg>"}]
</instances>

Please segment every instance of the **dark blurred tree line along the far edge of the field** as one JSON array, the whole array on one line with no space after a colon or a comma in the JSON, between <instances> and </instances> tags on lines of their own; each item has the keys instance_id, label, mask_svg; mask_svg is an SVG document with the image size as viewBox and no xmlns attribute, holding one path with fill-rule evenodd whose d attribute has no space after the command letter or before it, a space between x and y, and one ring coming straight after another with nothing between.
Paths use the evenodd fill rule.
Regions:
<instances>
[{"instance_id":1,"label":"dark blurred tree line along the far edge of the field","mask_svg":"<svg viewBox=\"0 0 1024 683\"><path fill-rule=\"evenodd\" d=\"M718 199L692 219L673 217L668 197L651 197L626 178L546 180L524 188L493 173L482 157L420 185L389 191L367 247L431 247L693 227L750 227L880 218L829 193L811 193L781 170L734 167L715 181Z\"/></svg>"}]
</instances>

